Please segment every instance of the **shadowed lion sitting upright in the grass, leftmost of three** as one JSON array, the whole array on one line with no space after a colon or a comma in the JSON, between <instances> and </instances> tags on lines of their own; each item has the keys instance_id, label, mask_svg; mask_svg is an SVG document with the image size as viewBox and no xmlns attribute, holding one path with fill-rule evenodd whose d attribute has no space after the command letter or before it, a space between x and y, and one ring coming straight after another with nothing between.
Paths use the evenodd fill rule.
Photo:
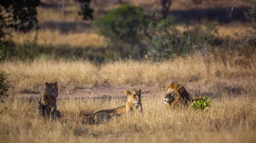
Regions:
<instances>
[{"instance_id":1,"label":"shadowed lion sitting upright in the grass, leftmost of three","mask_svg":"<svg viewBox=\"0 0 256 143\"><path fill-rule=\"evenodd\" d=\"M44 118L61 118L61 112L57 110L58 82L45 83L44 93L38 101L39 114Z\"/></svg>"}]
</instances>

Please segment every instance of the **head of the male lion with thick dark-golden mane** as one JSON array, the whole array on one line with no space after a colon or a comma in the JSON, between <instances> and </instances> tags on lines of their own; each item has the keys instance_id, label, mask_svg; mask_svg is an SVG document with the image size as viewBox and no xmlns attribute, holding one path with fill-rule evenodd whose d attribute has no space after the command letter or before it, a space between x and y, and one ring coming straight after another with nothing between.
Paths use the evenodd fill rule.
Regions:
<instances>
[{"instance_id":1,"label":"head of the male lion with thick dark-golden mane","mask_svg":"<svg viewBox=\"0 0 256 143\"><path fill-rule=\"evenodd\" d=\"M191 97L182 84L172 83L166 86L163 100L165 104L173 107L178 104L186 105L191 100Z\"/></svg>"}]
</instances>

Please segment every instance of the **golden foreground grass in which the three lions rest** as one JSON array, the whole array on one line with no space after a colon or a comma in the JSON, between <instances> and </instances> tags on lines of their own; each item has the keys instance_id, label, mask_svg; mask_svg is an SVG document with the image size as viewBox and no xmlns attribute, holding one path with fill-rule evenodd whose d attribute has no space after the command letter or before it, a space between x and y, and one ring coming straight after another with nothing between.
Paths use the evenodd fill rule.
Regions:
<instances>
[{"instance_id":1,"label":"golden foreground grass in which the three lions rest","mask_svg":"<svg viewBox=\"0 0 256 143\"><path fill-rule=\"evenodd\" d=\"M143 90L143 89L142 89ZM119 107L125 97L113 99L59 98L57 109L64 119L44 121L38 115L38 98L6 99L0 104L0 137L3 143L79 142L255 142L255 93L218 93L207 112L167 109L162 92L142 94L143 116L115 118L101 125L81 125L84 115Z\"/></svg>"}]
</instances>

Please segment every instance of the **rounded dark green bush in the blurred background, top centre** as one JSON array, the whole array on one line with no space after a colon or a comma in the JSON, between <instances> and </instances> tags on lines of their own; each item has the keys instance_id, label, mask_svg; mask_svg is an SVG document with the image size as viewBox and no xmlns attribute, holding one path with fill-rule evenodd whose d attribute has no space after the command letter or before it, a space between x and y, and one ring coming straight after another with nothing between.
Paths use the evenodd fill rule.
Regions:
<instances>
[{"instance_id":1,"label":"rounded dark green bush in the blurred background, top centre","mask_svg":"<svg viewBox=\"0 0 256 143\"><path fill-rule=\"evenodd\" d=\"M117 51L119 56L136 58L142 55L141 37L146 24L142 8L122 5L93 24L100 35L109 39L108 47Z\"/></svg>"}]
</instances>

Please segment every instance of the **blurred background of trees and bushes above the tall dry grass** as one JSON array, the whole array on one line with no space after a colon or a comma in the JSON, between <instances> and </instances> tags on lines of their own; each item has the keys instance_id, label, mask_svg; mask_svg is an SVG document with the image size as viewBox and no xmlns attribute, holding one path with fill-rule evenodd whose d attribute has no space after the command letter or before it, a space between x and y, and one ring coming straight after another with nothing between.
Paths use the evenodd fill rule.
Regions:
<instances>
[{"instance_id":1,"label":"blurred background of trees and bushes above the tall dry grass","mask_svg":"<svg viewBox=\"0 0 256 143\"><path fill-rule=\"evenodd\" d=\"M255 3L3 0L0 42L6 45L6 59L21 60L47 55L93 62L160 61L216 49L255 58Z\"/></svg>"}]
</instances>

